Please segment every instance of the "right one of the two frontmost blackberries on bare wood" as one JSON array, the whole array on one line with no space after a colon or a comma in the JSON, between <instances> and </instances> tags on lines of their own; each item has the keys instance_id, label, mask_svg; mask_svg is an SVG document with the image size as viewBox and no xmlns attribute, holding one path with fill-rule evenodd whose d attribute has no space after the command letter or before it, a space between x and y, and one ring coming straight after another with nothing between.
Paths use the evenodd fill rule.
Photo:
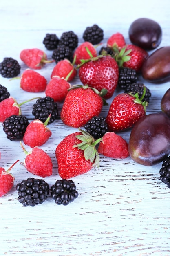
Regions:
<instances>
[{"instance_id":1,"label":"right one of the two frontmost blackberries on bare wood","mask_svg":"<svg viewBox=\"0 0 170 256\"><path fill-rule=\"evenodd\" d=\"M51 186L51 197L56 204L67 205L78 197L78 192L72 180L62 179Z\"/></svg>"}]
</instances>

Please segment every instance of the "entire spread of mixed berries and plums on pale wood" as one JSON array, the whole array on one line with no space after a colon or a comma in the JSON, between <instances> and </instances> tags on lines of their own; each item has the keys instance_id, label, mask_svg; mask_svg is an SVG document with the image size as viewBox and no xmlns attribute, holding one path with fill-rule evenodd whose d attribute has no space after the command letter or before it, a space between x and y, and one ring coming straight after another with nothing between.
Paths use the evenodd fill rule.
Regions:
<instances>
[{"instance_id":1,"label":"entire spread of mixed berries and plums on pale wood","mask_svg":"<svg viewBox=\"0 0 170 256\"><path fill-rule=\"evenodd\" d=\"M38 176L17 184L20 203L35 206L49 195L49 185L43 179L52 175L53 163L41 146L52 135L47 126L57 119L78 131L67 135L55 149L61 177L51 187L51 197L56 204L67 205L77 198L76 186L70 179L95 166L99 168L100 154L115 159L131 157L146 166L163 161L160 179L169 186L170 91L162 98L162 111L146 115L151 92L139 81L139 76L151 83L170 79L167 68L170 61L166 58L170 47L156 49L161 37L157 22L141 18L130 25L131 44L117 32L103 46L104 31L95 24L85 29L81 44L73 31L64 32L60 39L56 34L46 34L42 43L51 51L51 60L40 49L21 50L20 60L27 68L20 76L18 61L4 58L0 63L0 74L4 78L20 79L20 88L26 92L45 94L18 104L7 88L0 85L3 131L7 139L19 141L26 154L25 168ZM149 54L150 50L154 52ZM47 81L38 70L50 63L55 66ZM79 85L73 83L76 76L81 81ZM116 89L119 93L114 97ZM34 99L36 103L31 112L35 118L30 121L22 115L21 106ZM108 99L112 100L110 106ZM58 103L62 104L60 115ZM106 117L101 115L103 106L108 106ZM124 130L130 130L129 143L118 134ZM23 143L31 148L30 152ZM9 171L18 161L7 171L0 167L0 196L12 188L14 177Z\"/></svg>"}]
</instances>

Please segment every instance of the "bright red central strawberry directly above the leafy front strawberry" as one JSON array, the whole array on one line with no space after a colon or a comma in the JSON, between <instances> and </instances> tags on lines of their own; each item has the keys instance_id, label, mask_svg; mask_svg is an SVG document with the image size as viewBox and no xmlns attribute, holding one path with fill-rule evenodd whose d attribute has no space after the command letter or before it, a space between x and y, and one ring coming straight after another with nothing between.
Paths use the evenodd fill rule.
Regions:
<instances>
[{"instance_id":1,"label":"bright red central strawberry directly above the leafy front strawberry","mask_svg":"<svg viewBox=\"0 0 170 256\"><path fill-rule=\"evenodd\" d=\"M97 90L88 85L75 85L66 95L60 116L64 124L78 128L99 115L102 107L103 100Z\"/></svg>"}]
</instances>

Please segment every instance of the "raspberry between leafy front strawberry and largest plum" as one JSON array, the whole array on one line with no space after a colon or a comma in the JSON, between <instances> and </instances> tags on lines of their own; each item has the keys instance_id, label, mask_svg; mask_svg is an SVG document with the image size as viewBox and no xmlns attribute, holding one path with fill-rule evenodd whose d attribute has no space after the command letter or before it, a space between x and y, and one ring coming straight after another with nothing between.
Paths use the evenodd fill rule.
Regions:
<instances>
[{"instance_id":1,"label":"raspberry between leafy front strawberry and largest plum","mask_svg":"<svg viewBox=\"0 0 170 256\"><path fill-rule=\"evenodd\" d=\"M128 143L115 132L106 132L99 142L98 153L106 157L123 159L129 155Z\"/></svg>"}]
</instances>

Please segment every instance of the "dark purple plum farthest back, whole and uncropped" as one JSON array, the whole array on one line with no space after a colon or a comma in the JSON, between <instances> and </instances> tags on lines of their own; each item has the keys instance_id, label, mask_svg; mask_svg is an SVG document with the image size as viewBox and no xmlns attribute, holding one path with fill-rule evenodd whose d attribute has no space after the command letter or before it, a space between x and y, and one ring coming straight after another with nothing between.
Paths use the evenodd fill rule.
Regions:
<instances>
[{"instance_id":1,"label":"dark purple plum farthest back, whole and uncropped","mask_svg":"<svg viewBox=\"0 0 170 256\"><path fill-rule=\"evenodd\" d=\"M139 18L132 22L129 27L130 41L145 50L156 49L162 39L161 26L148 18Z\"/></svg>"}]
</instances>

